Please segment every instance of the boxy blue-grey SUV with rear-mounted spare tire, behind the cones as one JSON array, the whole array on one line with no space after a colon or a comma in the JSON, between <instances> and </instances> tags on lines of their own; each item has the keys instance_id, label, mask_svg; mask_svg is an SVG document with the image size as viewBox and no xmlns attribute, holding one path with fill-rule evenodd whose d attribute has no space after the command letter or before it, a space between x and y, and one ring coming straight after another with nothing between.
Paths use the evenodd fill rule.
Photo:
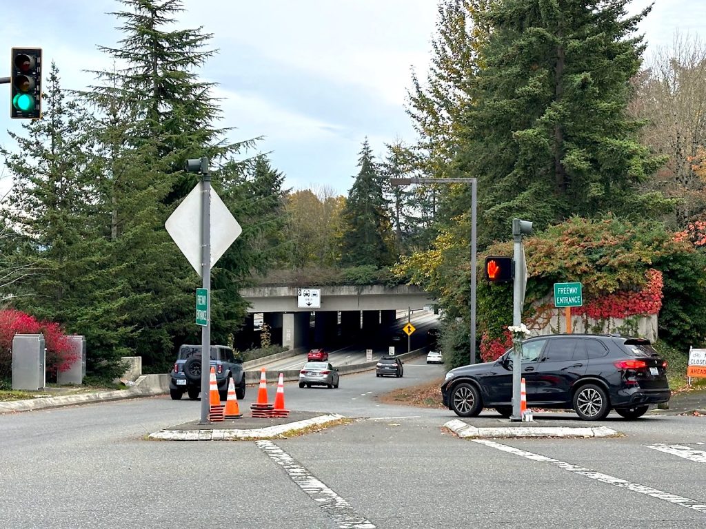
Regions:
<instances>
[{"instance_id":1,"label":"boxy blue-grey SUV with rear-mounted spare tire, behind the cones","mask_svg":"<svg viewBox=\"0 0 706 529\"><path fill-rule=\"evenodd\" d=\"M243 361L236 358L232 348L211 346L210 365L215 367L220 399L228 396L228 381L233 379L238 399L245 397L245 373ZM201 392L201 346L184 345L179 348L179 356L174 363L169 381L169 394L174 401L189 392L189 399L198 399Z\"/></svg>"}]
</instances>

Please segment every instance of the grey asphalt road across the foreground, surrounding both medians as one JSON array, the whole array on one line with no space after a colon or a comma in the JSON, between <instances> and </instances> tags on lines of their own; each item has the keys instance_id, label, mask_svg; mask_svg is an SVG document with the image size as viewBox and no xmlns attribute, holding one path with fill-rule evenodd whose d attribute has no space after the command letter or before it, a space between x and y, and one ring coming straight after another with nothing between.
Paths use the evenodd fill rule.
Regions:
<instances>
[{"instance_id":1,"label":"grey asphalt road across the foreground, surrounding both medians","mask_svg":"<svg viewBox=\"0 0 706 529\"><path fill-rule=\"evenodd\" d=\"M0 521L23 528L685 528L706 525L705 422L648 415L604 439L458 439L443 409L386 406L393 387L443 377L286 384L288 408L352 422L258 442L153 442L198 418L160 396L0 415ZM274 388L270 388L274 391ZM253 401L255 391L241 406ZM573 414L541 414L570 422ZM484 413L481 422L497 422Z\"/></svg>"}]
</instances>

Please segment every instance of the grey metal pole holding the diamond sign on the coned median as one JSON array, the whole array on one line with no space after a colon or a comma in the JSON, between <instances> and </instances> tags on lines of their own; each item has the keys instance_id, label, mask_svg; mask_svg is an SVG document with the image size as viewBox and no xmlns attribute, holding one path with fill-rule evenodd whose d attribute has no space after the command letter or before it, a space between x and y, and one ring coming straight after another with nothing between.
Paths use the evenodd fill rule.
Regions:
<instances>
[{"instance_id":1,"label":"grey metal pole holding the diamond sign on the coned median","mask_svg":"<svg viewBox=\"0 0 706 529\"><path fill-rule=\"evenodd\" d=\"M201 158L201 288L208 291L206 324L201 327L201 424L208 424L211 365L211 174L208 157Z\"/></svg>"}]
</instances>

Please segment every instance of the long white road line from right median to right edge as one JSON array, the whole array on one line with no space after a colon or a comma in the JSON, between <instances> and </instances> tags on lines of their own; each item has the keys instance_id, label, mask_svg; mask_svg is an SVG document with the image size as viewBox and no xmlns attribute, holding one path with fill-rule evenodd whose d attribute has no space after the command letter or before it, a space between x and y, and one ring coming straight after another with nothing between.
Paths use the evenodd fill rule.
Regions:
<instances>
[{"instance_id":1,"label":"long white road line from right median to right edge","mask_svg":"<svg viewBox=\"0 0 706 529\"><path fill-rule=\"evenodd\" d=\"M685 498L683 496L678 496L677 494L670 494L669 492L664 492L662 490L653 489L652 487L647 487L647 485L640 485L640 483L631 483L626 480L621 480L621 478L614 478L614 476L603 474L600 472L594 472L590 468L583 468L580 466L572 465L571 463L566 463L566 461L559 461L558 459L553 459L551 457L540 456L539 454L533 454L525 450L516 449L513 446L507 446L506 444L496 443L494 441L489 441L488 439L473 439L474 442L478 444L484 444L490 446L491 448L502 450L510 454L515 454L515 456L524 457L532 461L540 461L542 463L549 463L563 470L568 470L578 475L585 476L586 478L591 478L592 480L597 480L608 485L614 485L614 487L620 487L622 489L628 489L633 492L639 492L640 494L646 494L653 498L662 499L668 501L671 504L679 505L691 509L693 511L698 511L700 513L706 514L706 505L700 503L695 499Z\"/></svg>"}]
</instances>

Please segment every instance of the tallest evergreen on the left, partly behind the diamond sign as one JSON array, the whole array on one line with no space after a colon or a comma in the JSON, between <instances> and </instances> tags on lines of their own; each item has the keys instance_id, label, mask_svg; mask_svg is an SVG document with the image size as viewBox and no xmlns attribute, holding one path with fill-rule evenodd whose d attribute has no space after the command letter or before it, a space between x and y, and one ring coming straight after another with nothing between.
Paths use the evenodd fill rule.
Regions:
<instances>
[{"instance_id":1,"label":"tallest evergreen on the left, partly behind the diamond sign","mask_svg":"<svg viewBox=\"0 0 706 529\"><path fill-rule=\"evenodd\" d=\"M193 295L201 281L164 230L198 181L181 170L184 159L210 156L217 181L218 160L251 142L225 142L227 130L213 127L220 117L213 83L196 70L215 50L206 48L211 35L201 28L176 28L182 2L119 3L124 10L112 14L124 38L100 49L120 67L94 72L100 84L82 95L99 120L98 186L110 234L104 262L121 300L114 320L134 330L124 345L143 356L146 369L163 371L179 342L198 338Z\"/></svg>"}]
</instances>

